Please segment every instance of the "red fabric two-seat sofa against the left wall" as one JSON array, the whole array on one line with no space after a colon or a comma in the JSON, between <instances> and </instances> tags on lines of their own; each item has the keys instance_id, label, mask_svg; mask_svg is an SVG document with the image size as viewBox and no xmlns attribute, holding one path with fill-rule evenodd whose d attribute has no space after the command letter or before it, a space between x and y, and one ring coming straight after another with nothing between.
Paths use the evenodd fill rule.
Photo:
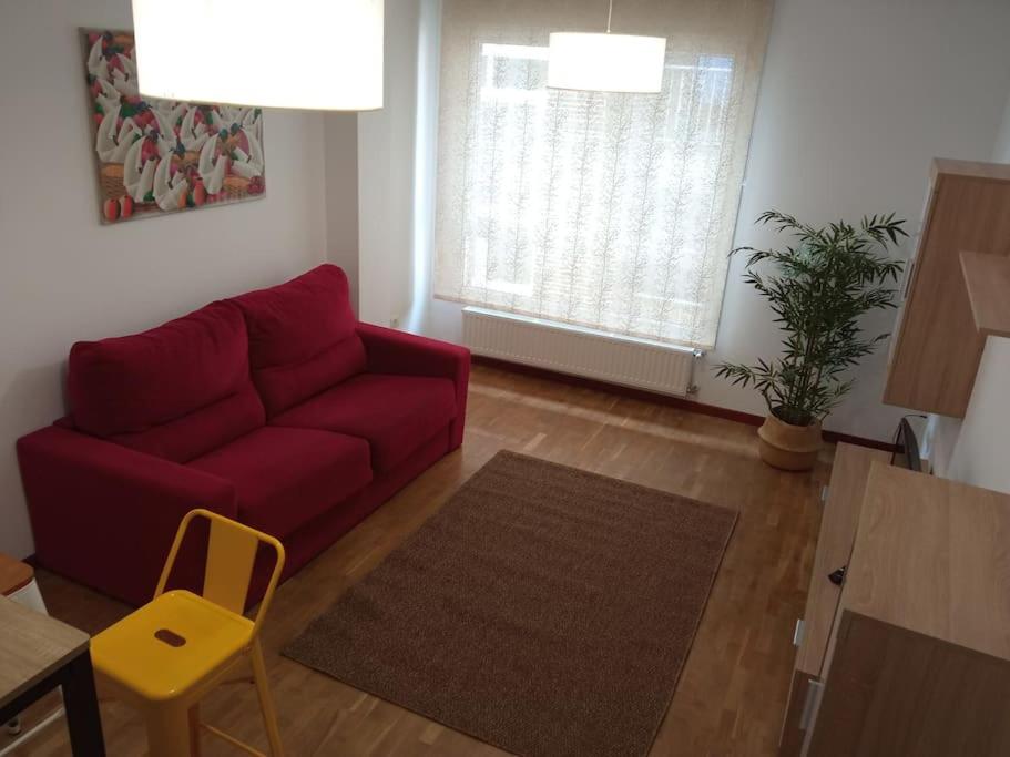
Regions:
<instances>
[{"instance_id":1,"label":"red fabric two-seat sofa against the left wall","mask_svg":"<svg viewBox=\"0 0 1010 757\"><path fill-rule=\"evenodd\" d=\"M141 604L203 507L280 539L286 577L460 446L469 366L462 347L357 321L333 265L78 342L70 415L18 440L35 556ZM198 585L200 552L185 545L174 584Z\"/></svg>"}]
</instances>

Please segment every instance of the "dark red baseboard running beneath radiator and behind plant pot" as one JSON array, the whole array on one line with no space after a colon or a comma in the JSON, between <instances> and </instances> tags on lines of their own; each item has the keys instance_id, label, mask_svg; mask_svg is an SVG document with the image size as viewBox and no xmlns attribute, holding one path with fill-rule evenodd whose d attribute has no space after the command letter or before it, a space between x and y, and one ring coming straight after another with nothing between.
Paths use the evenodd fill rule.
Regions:
<instances>
[{"instance_id":1,"label":"dark red baseboard running beneath radiator and behind plant pot","mask_svg":"<svg viewBox=\"0 0 1010 757\"><path fill-rule=\"evenodd\" d=\"M521 362L512 362L511 360L502 360L500 358L490 358L483 355L473 355L471 356L470 361L473 365L488 366L489 368L499 368L512 374L533 376L537 378L559 381L561 383L568 383L575 387L583 387L585 389L595 389L596 391L606 391L611 395L630 397L632 399L640 399L646 402L659 402L660 405L667 405L681 410L686 410L687 412L697 412L702 416L712 416L714 418L725 418L726 420L733 420L737 423L746 423L747 426L761 426L765 422L763 416L756 416L753 412L731 410L728 408L721 408L715 405L705 405L704 402L696 402L694 400L684 399L682 397L661 395L657 391L649 391L647 389L637 389L635 387L625 387L621 383L612 383L610 381L601 381L599 379L584 378L582 376L572 376L570 374L562 374L557 370L551 370L550 368L527 366ZM877 441L876 439L865 439L864 437L854 437L851 434L839 433L837 431L824 431L824 440L832 443L844 441L847 444L869 447L871 449L884 450L885 452L895 451L895 446L888 442Z\"/></svg>"}]
</instances>

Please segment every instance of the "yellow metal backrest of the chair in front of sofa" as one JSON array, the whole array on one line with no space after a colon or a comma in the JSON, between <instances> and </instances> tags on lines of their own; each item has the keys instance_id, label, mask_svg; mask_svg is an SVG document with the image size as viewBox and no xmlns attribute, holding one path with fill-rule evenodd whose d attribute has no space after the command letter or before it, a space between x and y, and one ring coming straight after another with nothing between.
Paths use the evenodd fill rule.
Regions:
<instances>
[{"instance_id":1,"label":"yellow metal backrest of the chair in front of sofa","mask_svg":"<svg viewBox=\"0 0 1010 757\"><path fill-rule=\"evenodd\" d=\"M207 560L203 580L202 596L208 602L242 615L245 610L245 600L249 591L249 582L253 576L253 564L256 561L256 553L261 544L271 546L276 553L274 570L271 573L271 580L267 584L263 600L259 602L259 610L256 612L255 627L253 635L259 632L259 625L266 615L266 610L274 599L274 590L280 579L280 571L284 569L284 545L274 536L251 529L242 523L218 515L210 510L191 510L178 524L178 531L175 533L175 541L172 543L172 550L169 552L169 559L162 569L161 579L157 582L157 589L154 590L154 596L159 596L165 591L165 584L175 565L175 559L178 555L178 549L190 524L197 518L210 521L210 535L207 540Z\"/></svg>"}]
</instances>

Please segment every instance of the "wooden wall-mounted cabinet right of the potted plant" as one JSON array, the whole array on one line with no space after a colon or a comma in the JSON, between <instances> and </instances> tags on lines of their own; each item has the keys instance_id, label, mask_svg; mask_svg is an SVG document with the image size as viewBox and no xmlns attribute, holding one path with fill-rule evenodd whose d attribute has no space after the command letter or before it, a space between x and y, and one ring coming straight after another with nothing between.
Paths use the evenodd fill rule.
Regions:
<instances>
[{"instance_id":1,"label":"wooden wall-mounted cabinet right of the potted plant","mask_svg":"<svg viewBox=\"0 0 1010 757\"><path fill-rule=\"evenodd\" d=\"M906 285L884 401L962 418L986 337L959 255L1010 257L1010 165L936 160Z\"/></svg>"}]
</instances>

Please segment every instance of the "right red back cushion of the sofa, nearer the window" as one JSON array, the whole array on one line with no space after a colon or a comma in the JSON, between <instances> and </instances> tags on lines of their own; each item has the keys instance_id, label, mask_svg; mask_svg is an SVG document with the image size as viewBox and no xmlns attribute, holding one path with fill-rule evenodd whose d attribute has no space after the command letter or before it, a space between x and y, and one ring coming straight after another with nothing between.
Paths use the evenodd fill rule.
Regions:
<instances>
[{"instance_id":1,"label":"right red back cushion of the sofa, nearer the window","mask_svg":"<svg viewBox=\"0 0 1010 757\"><path fill-rule=\"evenodd\" d=\"M322 265L234 300L249 334L253 381L274 416L365 370L347 276Z\"/></svg>"}]
</instances>

